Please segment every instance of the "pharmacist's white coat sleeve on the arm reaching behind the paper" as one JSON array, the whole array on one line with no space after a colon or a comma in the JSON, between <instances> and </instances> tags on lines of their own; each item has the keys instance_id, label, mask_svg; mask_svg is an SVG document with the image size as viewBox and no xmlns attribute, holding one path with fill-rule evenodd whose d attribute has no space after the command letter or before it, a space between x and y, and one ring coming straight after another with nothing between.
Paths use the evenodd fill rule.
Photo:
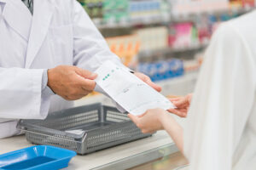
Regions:
<instances>
[{"instance_id":1,"label":"pharmacist's white coat sleeve on the arm reaching behind the paper","mask_svg":"<svg viewBox=\"0 0 256 170\"><path fill-rule=\"evenodd\" d=\"M119 57L110 51L104 37L84 8L75 0L73 0L73 48L74 65L85 70L96 71L107 60L122 65Z\"/></svg>"}]
</instances>

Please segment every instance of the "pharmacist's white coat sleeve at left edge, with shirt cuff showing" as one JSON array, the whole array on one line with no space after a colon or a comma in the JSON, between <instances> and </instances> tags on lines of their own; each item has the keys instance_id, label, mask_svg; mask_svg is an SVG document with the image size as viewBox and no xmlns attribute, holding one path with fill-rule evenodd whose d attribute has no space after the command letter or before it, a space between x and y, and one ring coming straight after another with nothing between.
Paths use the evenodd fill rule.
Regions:
<instances>
[{"instance_id":1,"label":"pharmacist's white coat sleeve at left edge, with shirt cuff showing","mask_svg":"<svg viewBox=\"0 0 256 170\"><path fill-rule=\"evenodd\" d=\"M0 67L0 118L44 119L49 97L42 98L41 69Z\"/></svg>"}]
</instances>

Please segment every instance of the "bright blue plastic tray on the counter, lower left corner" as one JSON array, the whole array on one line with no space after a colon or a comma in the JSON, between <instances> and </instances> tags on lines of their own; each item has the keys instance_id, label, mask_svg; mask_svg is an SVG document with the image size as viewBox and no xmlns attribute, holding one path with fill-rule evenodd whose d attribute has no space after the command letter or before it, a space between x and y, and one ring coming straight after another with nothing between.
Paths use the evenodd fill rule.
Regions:
<instances>
[{"instance_id":1,"label":"bright blue plastic tray on the counter, lower left corner","mask_svg":"<svg viewBox=\"0 0 256 170\"><path fill-rule=\"evenodd\" d=\"M76 152L38 145L0 155L0 170L55 170L68 166Z\"/></svg>"}]
</instances>

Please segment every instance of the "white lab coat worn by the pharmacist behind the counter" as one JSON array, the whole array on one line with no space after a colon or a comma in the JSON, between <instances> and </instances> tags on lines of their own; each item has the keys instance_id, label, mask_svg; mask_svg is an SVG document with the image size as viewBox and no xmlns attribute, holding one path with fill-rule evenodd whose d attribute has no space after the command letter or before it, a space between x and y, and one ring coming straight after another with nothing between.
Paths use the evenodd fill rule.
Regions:
<instances>
[{"instance_id":1,"label":"white lab coat worn by the pharmacist behind the counter","mask_svg":"<svg viewBox=\"0 0 256 170\"><path fill-rule=\"evenodd\" d=\"M95 71L120 64L84 8L75 0L0 0L0 139L19 133L19 119L44 119L73 102L41 96L43 69L77 65Z\"/></svg>"}]
</instances>

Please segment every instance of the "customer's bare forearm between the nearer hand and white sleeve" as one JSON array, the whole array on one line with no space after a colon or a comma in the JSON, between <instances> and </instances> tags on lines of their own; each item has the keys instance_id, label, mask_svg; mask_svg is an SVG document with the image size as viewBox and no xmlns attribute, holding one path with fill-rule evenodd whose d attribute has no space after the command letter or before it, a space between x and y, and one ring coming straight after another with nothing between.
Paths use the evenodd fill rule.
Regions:
<instances>
[{"instance_id":1,"label":"customer's bare forearm between the nearer hand and white sleeve","mask_svg":"<svg viewBox=\"0 0 256 170\"><path fill-rule=\"evenodd\" d=\"M169 133L177 148L183 153L183 127L180 126L172 115L166 113L161 118L162 126Z\"/></svg>"}]
</instances>

